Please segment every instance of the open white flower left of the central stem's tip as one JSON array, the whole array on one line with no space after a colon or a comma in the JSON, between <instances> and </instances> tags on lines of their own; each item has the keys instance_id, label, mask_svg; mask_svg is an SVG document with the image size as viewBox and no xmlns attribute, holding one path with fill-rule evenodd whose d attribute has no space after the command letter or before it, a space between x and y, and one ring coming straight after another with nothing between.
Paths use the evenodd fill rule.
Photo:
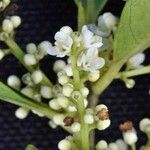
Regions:
<instances>
[{"instance_id":1,"label":"open white flower left of the central stem's tip","mask_svg":"<svg viewBox=\"0 0 150 150\"><path fill-rule=\"evenodd\" d=\"M49 45L48 54L56 57L64 57L69 55L73 44L72 29L64 26L55 34L55 46Z\"/></svg>"}]
</instances>

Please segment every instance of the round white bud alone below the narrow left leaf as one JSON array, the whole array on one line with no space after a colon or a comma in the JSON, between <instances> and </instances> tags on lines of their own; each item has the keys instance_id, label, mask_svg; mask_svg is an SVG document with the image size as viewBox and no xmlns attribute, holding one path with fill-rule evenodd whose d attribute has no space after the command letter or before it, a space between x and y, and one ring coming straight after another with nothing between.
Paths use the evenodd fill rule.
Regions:
<instances>
[{"instance_id":1,"label":"round white bud alone below the narrow left leaf","mask_svg":"<svg viewBox=\"0 0 150 150\"><path fill-rule=\"evenodd\" d=\"M15 116L19 119L25 119L29 114L29 110L27 108L20 107L15 111Z\"/></svg>"}]
</instances>

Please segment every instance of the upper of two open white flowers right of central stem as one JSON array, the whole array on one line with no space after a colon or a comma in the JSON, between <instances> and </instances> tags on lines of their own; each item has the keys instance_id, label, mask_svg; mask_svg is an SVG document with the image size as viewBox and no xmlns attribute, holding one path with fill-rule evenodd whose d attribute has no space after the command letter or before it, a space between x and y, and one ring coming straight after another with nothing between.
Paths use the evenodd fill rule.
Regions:
<instances>
[{"instance_id":1,"label":"upper of two open white flowers right of central stem","mask_svg":"<svg viewBox=\"0 0 150 150\"><path fill-rule=\"evenodd\" d=\"M82 27L81 39L85 48L100 48L103 45L102 38L94 35L86 25Z\"/></svg>"}]
</instances>

